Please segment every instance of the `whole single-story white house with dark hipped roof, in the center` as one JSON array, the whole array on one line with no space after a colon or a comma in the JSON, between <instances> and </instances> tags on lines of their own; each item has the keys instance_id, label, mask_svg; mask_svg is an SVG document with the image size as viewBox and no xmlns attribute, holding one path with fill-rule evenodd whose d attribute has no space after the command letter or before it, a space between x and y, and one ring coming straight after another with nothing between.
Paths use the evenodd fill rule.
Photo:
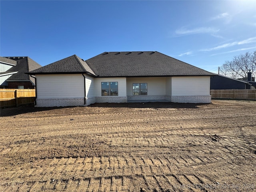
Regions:
<instances>
[{"instance_id":1,"label":"whole single-story white house with dark hipped roof, in the center","mask_svg":"<svg viewBox=\"0 0 256 192\"><path fill-rule=\"evenodd\" d=\"M38 68L36 106L87 106L95 102L168 100L210 103L207 72L160 52L76 55Z\"/></svg>"}]
</instances>

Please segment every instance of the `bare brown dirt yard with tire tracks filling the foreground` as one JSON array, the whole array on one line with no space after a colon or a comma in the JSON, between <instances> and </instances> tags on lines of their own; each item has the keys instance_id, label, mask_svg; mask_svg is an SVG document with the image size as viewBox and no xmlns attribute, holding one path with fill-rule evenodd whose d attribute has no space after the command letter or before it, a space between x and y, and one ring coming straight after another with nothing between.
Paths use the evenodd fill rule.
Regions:
<instances>
[{"instance_id":1,"label":"bare brown dirt yard with tire tracks filling the foreground","mask_svg":"<svg viewBox=\"0 0 256 192\"><path fill-rule=\"evenodd\" d=\"M1 110L0 191L256 191L256 102Z\"/></svg>"}]
</instances>

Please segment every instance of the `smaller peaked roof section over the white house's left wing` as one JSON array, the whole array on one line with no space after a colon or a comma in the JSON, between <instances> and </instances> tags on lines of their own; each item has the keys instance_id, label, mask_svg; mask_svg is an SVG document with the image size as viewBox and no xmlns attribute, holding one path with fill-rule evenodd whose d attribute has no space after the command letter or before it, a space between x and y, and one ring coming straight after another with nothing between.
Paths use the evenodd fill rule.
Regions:
<instances>
[{"instance_id":1,"label":"smaller peaked roof section over the white house's left wing","mask_svg":"<svg viewBox=\"0 0 256 192\"><path fill-rule=\"evenodd\" d=\"M90 73L95 76L87 63L76 55L46 65L28 74L81 74Z\"/></svg>"}]
</instances>

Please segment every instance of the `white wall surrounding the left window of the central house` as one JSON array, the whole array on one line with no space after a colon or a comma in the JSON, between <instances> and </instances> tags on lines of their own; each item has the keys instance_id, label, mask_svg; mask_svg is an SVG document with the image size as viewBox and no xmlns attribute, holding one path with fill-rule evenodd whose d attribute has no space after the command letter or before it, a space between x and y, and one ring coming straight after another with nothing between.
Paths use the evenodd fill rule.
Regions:
<instances>
[{"instance_id":1,"label":"white wall surrounding the left window of the central house","mask_svg":"<svg viewBox=\"0 0 256 192\"><path fill-rule=\"evenodd\" d=\"M101 82L118 82L118 96L126 96L126 78L95 78L95 96L101 96ZM114 96L112 96L114 97Z\"/></svg>"}]
</instances>

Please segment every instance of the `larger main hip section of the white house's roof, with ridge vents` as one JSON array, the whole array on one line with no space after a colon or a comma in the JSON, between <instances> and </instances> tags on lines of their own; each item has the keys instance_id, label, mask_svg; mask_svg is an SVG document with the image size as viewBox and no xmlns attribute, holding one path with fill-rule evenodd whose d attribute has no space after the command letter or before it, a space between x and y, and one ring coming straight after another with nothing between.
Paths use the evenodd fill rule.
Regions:
<instances>
[{"instance_id":1,"label":"larger main hip section of the white house's roof, with ridge vents","mask_svg":"<svg viewBox=\"0 0 256 192\"><path fill-rule=\"evenodd\" d=\"M160 52L104 52L86 60L100 77L211 76L202 70Z\"/></svg>"}]
</instances>

